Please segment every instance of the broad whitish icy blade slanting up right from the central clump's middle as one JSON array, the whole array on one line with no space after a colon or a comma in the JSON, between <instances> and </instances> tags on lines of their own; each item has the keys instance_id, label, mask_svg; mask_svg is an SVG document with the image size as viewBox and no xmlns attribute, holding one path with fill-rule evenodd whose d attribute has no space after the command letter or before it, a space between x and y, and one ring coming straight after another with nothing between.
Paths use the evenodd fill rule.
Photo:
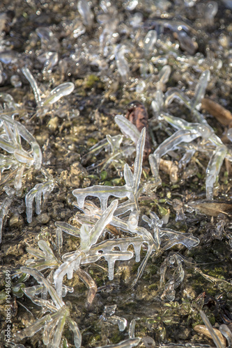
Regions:
<instances>
[{"instance_id":1,"label":"broad whitish icy blade slanting up right from the central clump's middle","mask_svg":"<svg viewBox=\"0 0 232 348\"><path fill-rule=\"evenodd\" d=\"M95 226L90 231L90 237L89 237L89 246L95 244L98 241L98 238L100 237L102 230L104 230L105 226L108 225L108 223L111 222L114 211L118 207L118 200L113 200L111 205L105 210L105 212L102 214L100 219L97 223L95 223Z\"/></svg>"}]
</instances>

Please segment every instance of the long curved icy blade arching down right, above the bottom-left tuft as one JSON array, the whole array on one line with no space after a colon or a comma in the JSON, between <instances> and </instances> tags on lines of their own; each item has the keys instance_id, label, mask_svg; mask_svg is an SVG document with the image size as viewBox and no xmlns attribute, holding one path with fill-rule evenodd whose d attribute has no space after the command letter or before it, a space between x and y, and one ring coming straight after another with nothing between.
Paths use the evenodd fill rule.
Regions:
<instances>
[{"instance_id":1,"label":"long curved icy blade arching down right, above the bottom-left tuft","mask_svg":"<svg viewBox=\"0 0 232 348\"><path fill-rule=\"evenodd\" d=\"M58 294L56 293L56 290L54 290L52 285L50 285L49 281L42 275L42 273L40 273L40 271L37 271L36 269L29 268L29 267L21 267L20 270L23 273L27 273L33 276L33 278L35 278L38 281L38 283L40 283L41 285L45 285L57 309L61 309L61 307L65 306L63 301L59 298Z\"/></svg>"}]
</instances>

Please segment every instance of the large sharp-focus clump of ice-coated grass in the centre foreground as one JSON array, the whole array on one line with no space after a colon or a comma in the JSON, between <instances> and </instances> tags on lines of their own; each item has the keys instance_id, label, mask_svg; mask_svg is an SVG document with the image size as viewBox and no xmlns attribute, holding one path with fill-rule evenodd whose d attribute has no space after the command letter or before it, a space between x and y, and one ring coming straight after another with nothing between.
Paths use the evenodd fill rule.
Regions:
<instances>
[{"instance_id":1,"label":"large sharp-focus clump of ice-coated grass in the centre foreground","mask_svg":"<svg viewBox=\"0 0 232 348\"><path fill-rule=\"evenodd\" d=\"M80 347L81 334L78 326L70 318L70 310L62 300L62 297L67 294L68 287L64 284L64 277L70 280L76 274L80 280L88 287L88 295L86 299L86 306L89 308L93 303L95 294L97 292L97 286L93 278L82 269L85 264L91 262L98 262L100 258L105 258L108 264L108 276L109 280L114 279L114 268L116 261L126 261L133 258L135 254L136 262L140 261L141 248L144 244L147 245L147 252L144 260L142 260L139 269L137 271L137 277L134 278L132 286L134 286L141 275L144 273L144 269L148 262L148 258L152 253L155 253L155 257L160 256L164 251L167 251L176 244L183 244L185 247L191 249L199 244L199 239L194 237L190 233L181 233L168 228L162 228L163 222L160 221L155 213L150 213L150 219L148 216L142 216L142 219L148 224L149 228L139 226L139 186L141 180L141 168L144 155L144 142L146 131L142 130L139 140L137 142L137 155L134 161L134 174L130 170L129 166L125 164L124 187L90 187L88 189L75 189L73 194L77 197L79 209L86 214L86 217L79 217L79 223L82 224L78 230L75 227L70 226L68 223L57 221L56 226L59 229L57 235L60 235L60 230L79 238L79 247L75 251L65 253L62 255L62 260L57 259L52 249L46 242L38 242L40 250L35 248L27 248L27 251L36 256L38 260L28 260L26 264L29 267L21 267L20 271L25 274L33 276L40 285L22 288L22 291L26 296L29 296L31 301L38 306L42 306L42 311L45 313L47 310L52 314L45 315L41 319L38 319L35 323L31 324L28 328L15 335L15 340L22 340L24 337L30 337L37 331L43 330L42 340L47 347L54 347L55 343L58 347L61 342L61 336L63 326L65 322L68 323L70 329L75 335L75 347ZM85 201L86 196L96 196L101 203L101 209L96 207L93 203ZM109 196L116 198L127 198L124 203L118 205L118 200L113 200L107 207L107 200ZM36 203L38 204L38 203ZM118 218L118 215L125 215L130 211L130 215L123 219ZM89 227L89 223L93 223L93 227ZM111 238L109 240L103 240L99 242L102 234L107 226L115 226L122 230L124 233L130 235L130 237ZM61 237L56 239L57 245L61 248ZM132 245L134 253L128 251L129 246ZM176 261L178 267L177 276L173 276L173 280L169 280L164 286L164 296L169 301L173 301L175 298L175 289L183 282L184 271L181 265L181 259L178 255L173 255L166 260L162 280L160 280L161 288L164 285L164 275L167 269L167 264L173 264ZM47 280L40 273L44 269L56 269L53 274L50 274ZM175 271L176 273L176 271ZM52 283L54 282L54 287ZM69 290L70 291L70 290ZM42 294L41 298L38 298L38 294ZM45 297L49 294L52 297L51 301L47 301ZM46 296L45 296L46 295ZM161 298L162 298L161 296ZM110 307L111 308L111 307ZM114 307L115 310L116 306ZM109 313L110 317L107 319L107 313L109 308L105 308L105 314L102 315L102 319L109 320L110 322L117 322L119 329L124 330L126 326L125 319L116 317L114 310ZM54 343L55 342L55 343ZM139 343L139 338L130 337L129 340L121 342L121 344L115 347L134 347ZM107 347L107 346L106 346ZM113 347L113 346L112 346Z\"/></svg>"}]
</instances>

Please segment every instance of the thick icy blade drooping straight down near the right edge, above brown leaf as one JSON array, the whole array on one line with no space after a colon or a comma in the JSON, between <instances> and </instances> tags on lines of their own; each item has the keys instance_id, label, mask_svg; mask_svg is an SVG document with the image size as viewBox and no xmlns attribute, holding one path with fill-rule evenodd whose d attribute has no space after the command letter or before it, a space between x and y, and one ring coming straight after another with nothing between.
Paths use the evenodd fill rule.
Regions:
<instances>
[{"instance_id":1,"label":"thick icy blade drooping straight down near the right edge, above brown leaf","mask_svg":"<svg viewBox=\"0 0 232 348\"><path fill-rule=\"evenodd\" d=\"M217 175L222 167L222 163L227 154L227 148L225 145L219 146L215 149L208 162L206 168L206 198L213 199L213 185L217 180Z\"/></svg>"}]
</instances>

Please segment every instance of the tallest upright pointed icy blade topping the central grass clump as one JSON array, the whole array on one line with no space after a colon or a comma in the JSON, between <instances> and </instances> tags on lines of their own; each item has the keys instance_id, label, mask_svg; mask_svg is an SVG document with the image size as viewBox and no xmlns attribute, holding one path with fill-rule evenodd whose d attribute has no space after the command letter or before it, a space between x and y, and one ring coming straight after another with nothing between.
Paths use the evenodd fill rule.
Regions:
<instances>
[{"instance_id":1,"label":"tallest upright pointed icy blade topping the central grass clump","mask_svg":"<svg viewBox=\"0 0 232 348\"><path fill-rule=\"evenodd\" d=\"M137 152L136 157L134 159L134 175L133 175L133 189L134 194L136 195L139 190L139 183L141 179L141 172L143 170L143 157L144 157L144 144L146 139L146 128L144 127L141 130L141 134L139 136L139 141L137 143Z\"/></svg>"}]
</instances>

